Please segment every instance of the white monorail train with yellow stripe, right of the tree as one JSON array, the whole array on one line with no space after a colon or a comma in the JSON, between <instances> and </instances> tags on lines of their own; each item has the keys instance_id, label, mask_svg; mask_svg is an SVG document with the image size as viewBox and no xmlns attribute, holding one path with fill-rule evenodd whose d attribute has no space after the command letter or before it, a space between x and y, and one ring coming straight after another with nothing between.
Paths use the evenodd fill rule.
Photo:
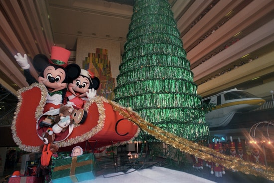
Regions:
<instances>
[{"instance_id":1,"label":"white monorail train with yellow stripe, right of the tree","mask_svg":"<svg viewBox=\"0 0 274 183\"><path fill-rule=\"evenodd\" d=\"M215 105L212 111L205 115L209 128L227 126L235 113L254 110L266 102L260 97L236 88L204 98L202 101Z\"/></svg>"}]
</instances>

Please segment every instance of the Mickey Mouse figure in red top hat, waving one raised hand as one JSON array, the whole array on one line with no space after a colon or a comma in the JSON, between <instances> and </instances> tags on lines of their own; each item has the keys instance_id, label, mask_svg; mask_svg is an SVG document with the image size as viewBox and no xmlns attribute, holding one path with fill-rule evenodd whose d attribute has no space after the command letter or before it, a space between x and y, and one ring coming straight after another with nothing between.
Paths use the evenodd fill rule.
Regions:
<instances>
[{"instance_id":1,"label":"Mickey Mouse figure in red top hat, waving one raised hand","mask_svg":"<svg viewBox=\"0 0 274 183\"><path fill-rule=\"evenodd\" d=\"M17 63L24 69L28 84L39 82L46 87L48 93L44 112L60 108L60 104L65 98L68 81L76 79L81 72L81 68L77 64L68 64L69 56L69 50L58 46L51 47L50 59L43 54L35 55L33 66L36 71L40 72L37 81L30 74L27 55L22 56L20 53L14 55Z\"/></svg>"}]
</instances>

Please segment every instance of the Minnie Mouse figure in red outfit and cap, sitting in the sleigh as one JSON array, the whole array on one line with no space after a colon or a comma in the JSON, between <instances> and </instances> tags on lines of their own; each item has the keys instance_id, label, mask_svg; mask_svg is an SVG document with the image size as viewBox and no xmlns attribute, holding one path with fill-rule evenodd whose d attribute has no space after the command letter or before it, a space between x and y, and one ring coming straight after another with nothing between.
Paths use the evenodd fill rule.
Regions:
<instances>
[{"instance_id":1,"label":"Minnie Mouse figure in red outfit and cap, sitting in the sleigh","mask_svg":"<svg viewBox=\"0 0 274 183\"><path fill-rule=\"evenodd\" d=\"M82 109L87 101L96 96L100 80L90 70L81 69L78 78L68 84L66 92L67 102L75 109Z\"/></svg>"}]
</instances>

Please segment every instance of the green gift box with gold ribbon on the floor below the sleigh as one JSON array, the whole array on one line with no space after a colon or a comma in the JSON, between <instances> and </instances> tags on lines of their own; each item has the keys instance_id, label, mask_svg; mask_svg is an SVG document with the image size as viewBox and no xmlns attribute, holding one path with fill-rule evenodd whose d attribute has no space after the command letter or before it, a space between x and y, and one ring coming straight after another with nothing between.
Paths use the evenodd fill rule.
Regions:
<instances>
[{"instance_id":1,"label":"green gift box with gold ribbon on the floor below the sleigh","mask_svg":"<svg viewBox=\"0 0 274 183\"><path fill-rule=\"evenodd\" d=\"M52 183L78 183L94 180L94 164L95 157L91 153L58 159L53 168L51 181Z\"/></svg>"}]
</instances>

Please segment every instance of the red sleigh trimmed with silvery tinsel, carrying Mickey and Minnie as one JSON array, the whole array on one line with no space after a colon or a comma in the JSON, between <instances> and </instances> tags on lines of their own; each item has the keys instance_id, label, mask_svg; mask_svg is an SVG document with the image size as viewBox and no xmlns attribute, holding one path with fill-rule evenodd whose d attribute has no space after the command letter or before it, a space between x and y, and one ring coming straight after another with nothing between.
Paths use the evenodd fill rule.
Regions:
<instances>
[{"instance_id":1,"label":"red sleigh trimmed with silvery tinsel, carrying Mickey and Minnie","mask_svg":"<svg viewBox=\"0 0 274 183\"><path fill-rule=\"evenodd\" d=\"M42 132L47 127L39 127L38 120L44 110L47 91L42 84L34 83L18 90L18 104L11 125L14 142L26 152L38 152ZM100 149L116 143L126 143L134 139L139 129L129 110L102 96L94 97L84 110L87 118L83 124L74 125L61 135L56 135L55 143L60 150L71 151L71 146L85 146ZM132 114L133 111L131 111ZM89 146L87 146L87 143ZM83 147L84 148L84 147Z\"/></svg>"}]
</instances>

